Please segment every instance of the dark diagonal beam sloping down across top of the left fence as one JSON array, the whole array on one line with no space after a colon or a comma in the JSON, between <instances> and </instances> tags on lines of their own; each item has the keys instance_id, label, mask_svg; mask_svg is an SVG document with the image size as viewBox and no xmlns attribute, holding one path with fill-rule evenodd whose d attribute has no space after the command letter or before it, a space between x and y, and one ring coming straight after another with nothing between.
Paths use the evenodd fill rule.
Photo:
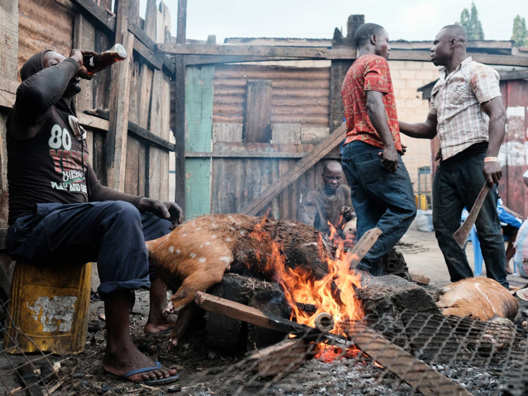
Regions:
<instances>
[{"instance_id":1,"label":"dark diagonal beam sloping down across top of the left fence","mask_svg":"<svg viewBox=\"0 0 528 396\"><path fill-rule=\"evenodd\" d=\"M99 26L105 30L109 36L115 35L116 32L116 17L108 14L104 8L99 7L92 0L71 0L73 4L80 8L80 10L96 21ZM156 43L148 37L148 35L133 22L128 25L128 31L138 40L134 41L134 51L141 55L154 68L161 70L166 68L169 74L174 75L174 63L168 56L156 53Z\"/></svg>"}]
</instances>

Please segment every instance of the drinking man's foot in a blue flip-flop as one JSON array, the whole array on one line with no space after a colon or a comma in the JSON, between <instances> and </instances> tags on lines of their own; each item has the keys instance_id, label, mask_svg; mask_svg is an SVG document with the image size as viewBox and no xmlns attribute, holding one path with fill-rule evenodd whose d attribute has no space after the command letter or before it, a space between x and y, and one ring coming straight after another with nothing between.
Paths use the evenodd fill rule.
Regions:
<instances>
[{"instance_id":1,"label":"drinking man's foot in a blue flip-flop","mask_svg":"<svg viewBox=\"0 0 528 396\"><path fill-rule=\"evenodd\" d=\"M105 372L122 376L132 370L142 369L143 367L155 367L156 364L143 353L139 352L134 346L129 350L120 350L119 353L110 353L106 351L102 359L102 367ZM161 369L151 370L144 373L133 374L127 377L131 382L152 381L167 378L176 375L174 369L167 369L162 366Z\"/></svg>"}]
</instances>

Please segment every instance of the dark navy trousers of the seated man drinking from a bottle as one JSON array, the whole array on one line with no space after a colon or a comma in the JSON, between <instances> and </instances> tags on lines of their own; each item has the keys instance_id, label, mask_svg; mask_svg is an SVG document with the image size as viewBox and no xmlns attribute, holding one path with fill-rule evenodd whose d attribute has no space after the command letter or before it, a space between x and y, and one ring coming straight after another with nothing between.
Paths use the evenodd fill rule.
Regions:
<instances>
[{"instance_id":1,"label":"dark navy trousers of the seated man drinking from a bottle","mask_svg":"<svg viewBox=\"0 0 528 396\"><path fill-rule=\"evenodd\" d=\"M145 241L166 235L170 226L123 201L37 204L8 229L6 248L12 259L37 266L97 261L104 299L112 291L150 287Z\"/></svg>"}]
</instances>

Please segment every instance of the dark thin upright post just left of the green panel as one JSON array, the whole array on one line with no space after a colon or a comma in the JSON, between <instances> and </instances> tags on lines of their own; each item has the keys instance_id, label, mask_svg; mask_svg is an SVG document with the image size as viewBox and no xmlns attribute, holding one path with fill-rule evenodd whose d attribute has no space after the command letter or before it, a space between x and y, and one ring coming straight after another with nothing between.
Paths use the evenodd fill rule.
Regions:
<instances>
[{"instance_id":1,"label":"dark thin upright post just left of the green panel","mask_svg":"<svg viewBox=\"0 0 528 396\"><path fill-rule=\"evenodd\" d=\"M186 41L187 0L178 0L176 43ZM185 58L176 55L176 78L174 79L174 125L172 131L176 140L175 150L175 192L174 200L185 215Z\"/></svg>"}]
</instances>

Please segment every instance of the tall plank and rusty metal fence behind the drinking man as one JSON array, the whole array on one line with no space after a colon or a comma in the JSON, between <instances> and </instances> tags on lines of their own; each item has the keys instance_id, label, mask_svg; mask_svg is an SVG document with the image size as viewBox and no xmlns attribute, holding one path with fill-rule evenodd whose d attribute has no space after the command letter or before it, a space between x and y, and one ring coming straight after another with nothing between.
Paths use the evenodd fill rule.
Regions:
<instances>
[{"instance_id":1,"label":"tall plank and rusty metal fence behind the drinking man","mask_svg":"<svg viewBox=\"0 0 528 396\"><path fill-rule=\"evenodd\" d=\"M102 52L122 43L125 61L82 80L76 96L78 118L87 130L90 162L102 184L130 194L168 200L171 80L175 66L156 52L170 41L165 3L139 0L2 0L0 6L0 234L4 248L8 215L5 120L20 83L18 74L34 53L51 49L68 56L72 48ZM0 251L0 282L13 263ZM1 270L3 268L3 271Z\"/></svg>"}]
</instances>

